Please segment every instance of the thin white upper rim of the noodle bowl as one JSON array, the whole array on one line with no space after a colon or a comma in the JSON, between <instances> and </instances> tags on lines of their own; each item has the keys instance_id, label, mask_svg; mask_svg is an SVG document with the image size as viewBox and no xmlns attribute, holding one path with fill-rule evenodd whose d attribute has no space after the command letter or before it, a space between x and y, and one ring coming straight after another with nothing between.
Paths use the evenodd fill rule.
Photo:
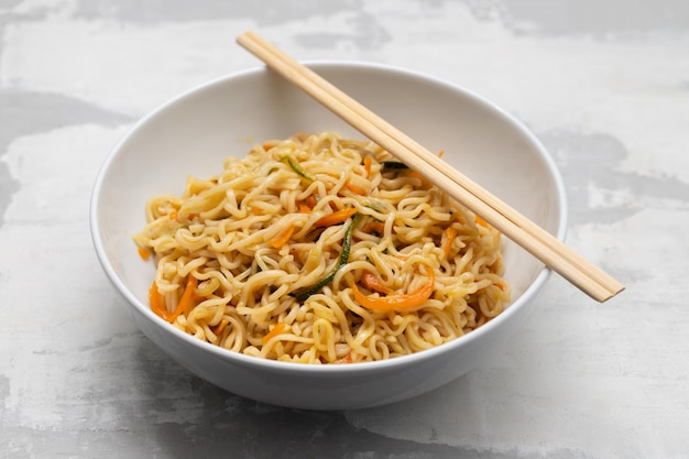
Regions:
<instances>
[{"instance_id":1,"label":"thin white upper rim of the noodle bowl","mask_svg":"<svg viewBox=\"0 0 689 459\"><path fill-rule=\"evenodd\" d=\"M378 73L387 73L394 76L404 76L404 77L413 77L418 79L425 84L430 84L434 86L439 86L441 89L459 92L462 97L471 99L474 102L480 103L483 108L489 109L495 116L504 119L506 122L512 124L513 128L518 130L521 135L524 135L525 139L531 142L535 150L539 153L540 159L544 161L548 173L550 174L550 178L554 182L554 185L557 189L557 205L559 207L559 217L557 221L557 231L554 234L558 240L564 241L567 232L567 218L568 218L568 204L567 204L567 195L565 190L565 184L561 177L561 174L555 163L553 156L548 153L543 143L536 138L536 135L531 132L526 125L518 120L516 117L507 112L506 110L500 108L491 100L480 96L467 87L457 85L455 83L450 83L446 79L428 75L426 73L422 73L414 69L403 68L400 66L393 66L389 64L381 63L372 63L367 61L348 61L348 59L311 59L311 61L303 61L303 64L313 68L315 72L319 69L328 69L328 68L356 68L361 70L373 70ZM118 276L117 271L112 262L108 259L103 238L101 236L100 225L98 221L98 208L100 203L101 190L103 186L103 182L108 175L109 168L111 164L116 161L122 147L128 143L128 141L150 120L154 119L158 114L169 110L177 103L186 100L187 98L193 97L195 94L199 91L205 91L212 89L215 86L227 84L231 80L252 77L256 75L262 75L266 73L271 73L272 70L267 69L265 66L256 66L250 67L247 69L232 72L226 75L221 75L217 78L207 80L199 85L196 85L185 91L182 91L177 96L164 101L158 105L153 110L149 111L142 118L139 119L133 125L129 128L124 135L122 135L114 145L108 152L103 163L101 164L94 186L91 190L91 198L89 203L89 226L91 233L91 242L94 244L96 254L100 262L101 267L106 272L110 282L114 285L114 287L120 292L120 294L130 303L130 307L134 307L145 319L153 321L155 326L168 332L172 337L177 340L182 340L185 343L197 348L198 350L210 352L216 358L220 358L222 360L231 361L236 364L241 364L243 367L251 368L263 368L270 369L277 372L286 372L286 373L298 373L298 374L342 374L343 372L347 374L356 374L359 372L373 372L373 371L383 371L387 369L395 369L401 367L407 367L411 364L415 364L420 361L438 358L445 353L455 352L460 347L466 347L470 342L479 340L483 335L490 334L493 328L500 327L502 323L507 321L508 318L516 314L520 309L522 309L528 302L531 302L543 288L547 278L551 274L551 270L544 266L538 275L534 278L534 281L528 285L528 287L522 293L522 295L514 302L508 304L508 307L505 308L497 317L493 320L490 320L488 324L482 325L481 327L471 330L470 332L453 339L452 341L448 341L440 346L436 346L429 349L425 349L412 354L401 356L393 359L379 360L372 362L352 362L348 364L299 364L295 362L285 362L277 361L271 359L262 359L253 356L247 356L240 352L231 351L229 349L221 348L217 345L212 345L210 342L201 341L188 335L175 327L169 326L169 324L164 323L160 317L157 317L150 307L144 305L139 298L124 285L122 280ZM167 350L165 350L167 352Z\"/></svg>"}]
</instances>

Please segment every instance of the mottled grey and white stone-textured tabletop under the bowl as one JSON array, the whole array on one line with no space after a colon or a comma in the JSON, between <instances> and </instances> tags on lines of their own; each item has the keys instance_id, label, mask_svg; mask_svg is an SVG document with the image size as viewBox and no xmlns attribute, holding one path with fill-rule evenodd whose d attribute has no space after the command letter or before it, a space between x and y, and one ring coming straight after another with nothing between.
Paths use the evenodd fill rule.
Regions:
<instances>
[{"instance_id":1,"label":"mottled grey and white stone-textured tabletop under the bowl","mask_svg":"<svg viewBox=\"0 0 689 459\"><path fill-rule=\"evenodd\" d=\"M517 116L561 168L568 243L626 292L553 276L494 360L374 409L276 408L178 367L100 270L89 196L136 119L260 65L248 29ZM687 457L688 149L681 0L0 1L0 457Z\"/></svg>"}]
</instances>

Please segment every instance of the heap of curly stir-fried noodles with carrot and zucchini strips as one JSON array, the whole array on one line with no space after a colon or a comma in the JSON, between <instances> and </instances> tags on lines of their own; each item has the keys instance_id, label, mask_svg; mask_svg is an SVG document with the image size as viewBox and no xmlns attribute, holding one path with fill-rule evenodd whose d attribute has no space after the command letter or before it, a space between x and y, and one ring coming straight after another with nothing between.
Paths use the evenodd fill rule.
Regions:
<instances>
[{"instance_id":1,"label":"heap of curly stir-fried noodles with carrot and zucchini strips","mask_svg":"<svg viewBox=\"0 0 689 459\"><path fill-rule=\"evenodd\" d=\"M249 356L395 358L475 329L510 299L495 229L380 146L332 132L229 157L182 197L151 199L146 219L134 240L155 255L152 309Z\"/></svg>"}]
</instances>

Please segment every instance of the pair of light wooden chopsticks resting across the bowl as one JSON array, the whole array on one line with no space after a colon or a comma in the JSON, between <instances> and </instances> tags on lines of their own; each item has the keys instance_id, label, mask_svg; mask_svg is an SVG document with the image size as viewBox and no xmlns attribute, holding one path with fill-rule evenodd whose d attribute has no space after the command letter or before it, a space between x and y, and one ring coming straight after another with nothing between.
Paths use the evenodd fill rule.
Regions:
<instances>
[{"instance_id":1,"label":"pair of light wooden chopsticks resting across the bowl","mask_svg":"<svg viewBox=\"0 0 689 459\"><path fill-rule=\"evenodd\" d=\"M254 32L241 34L237 42L592 298L602 303L624 289L557 238Z\"/></svg>"}]
</instances>

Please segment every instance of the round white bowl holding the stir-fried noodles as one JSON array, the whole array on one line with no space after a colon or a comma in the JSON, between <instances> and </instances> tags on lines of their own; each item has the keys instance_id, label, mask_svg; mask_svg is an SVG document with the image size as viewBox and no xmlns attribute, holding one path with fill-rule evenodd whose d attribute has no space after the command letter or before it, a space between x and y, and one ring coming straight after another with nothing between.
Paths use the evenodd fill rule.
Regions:
<instances>
[{"instance_id":1,"label":"round white bowl holding the stir-fried noodles","mask_svg":"<svg viewBox=\"0 0 689 459\"><path fill-rule=\"evenodd\" d=\"M560 240L566 199L557 168L536 138L481 97L428 76L362 63L309 66L411 134ZM497 318L447 345L386 361L308 365L269 361L203 342L151 312L154 266L132 236L144 205L181 194L186 177L217 174L230 154L254 142L335 130L348 124L264 68L226 76L165 103L114 146L95 184L90 225L103 270L141 330L173 359L232 393L305 409L352 409L402 401L439 387L485 362L523 323L549 270L505 241L505 277L513 303Z\"/></svg>"}]
</instances>

